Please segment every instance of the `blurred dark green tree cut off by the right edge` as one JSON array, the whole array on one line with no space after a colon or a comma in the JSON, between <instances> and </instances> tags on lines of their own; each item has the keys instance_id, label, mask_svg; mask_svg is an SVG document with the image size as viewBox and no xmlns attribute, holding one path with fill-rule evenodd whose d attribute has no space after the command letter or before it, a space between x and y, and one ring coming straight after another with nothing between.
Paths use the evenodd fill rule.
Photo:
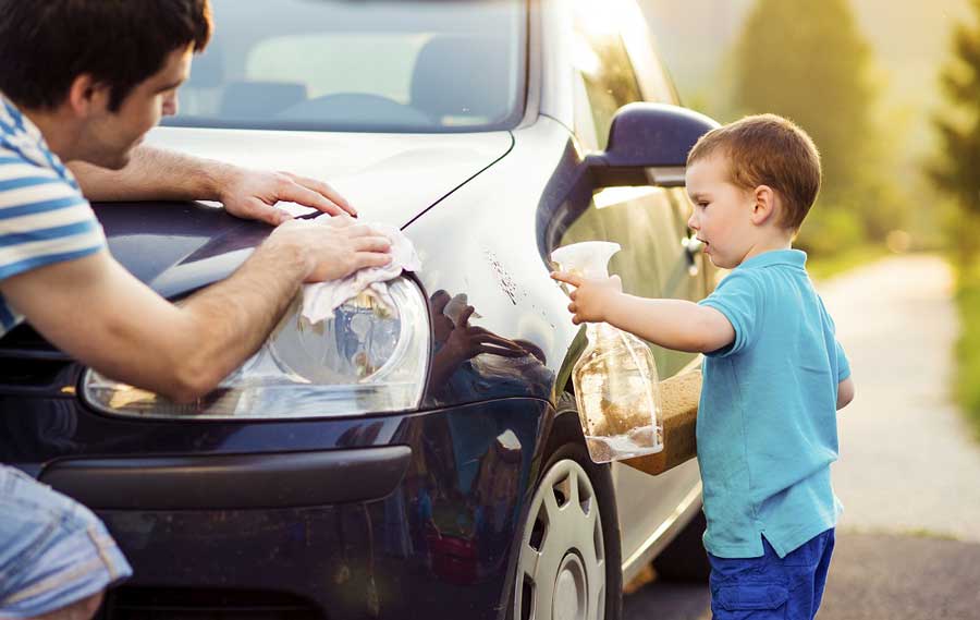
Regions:
<instances>
[{"instance_id":1,"label":"blurred dark green tree cut off by the right edge","mask_svg":"<svg viewBox=\"0 0 980 620\"><path fill-rule=\"evenodd\" d=\"M971 5L980 17L980 0ZM934 118L943 149L931 172L961 211L952 236L965 263L980 251L980 25L957 25L953 52L941 74L951 110Z\"/></svg>"}]
</instances>

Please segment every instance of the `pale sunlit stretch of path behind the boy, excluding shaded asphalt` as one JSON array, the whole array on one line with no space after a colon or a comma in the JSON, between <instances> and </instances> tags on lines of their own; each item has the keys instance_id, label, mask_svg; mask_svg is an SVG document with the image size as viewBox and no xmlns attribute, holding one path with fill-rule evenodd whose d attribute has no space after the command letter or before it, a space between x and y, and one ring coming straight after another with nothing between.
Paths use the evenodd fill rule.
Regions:
<instances>
[{"instance_id":1,"label":"pale sunlit stretch of path behind the boy, excluding shaded asphalt","mask_svg":"<svg viewBox=\"0 0 980 620\"><path fill-rule=\"evenodd\" d=\"M948 267L897 257L820 291L858 394L840 416L841 526L980 542L980 443L950 397L959 328Z\"/></svg>"}]
</instances>

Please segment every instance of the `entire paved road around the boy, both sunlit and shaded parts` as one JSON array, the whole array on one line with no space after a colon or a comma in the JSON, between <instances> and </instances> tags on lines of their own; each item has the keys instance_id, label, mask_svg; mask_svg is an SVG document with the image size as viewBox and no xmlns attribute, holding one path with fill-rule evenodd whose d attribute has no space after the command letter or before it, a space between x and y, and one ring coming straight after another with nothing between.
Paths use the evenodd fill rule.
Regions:
<instances>
[{"instance_id":1,"label":"entire paved road around the boy, both sunlit and shaded parts","mask_svg":"<svg viewBox=\"0 0 980 620\"><path fill-rule=\"evenodd\" d=\"M833 476L845 506L820 620L980 620L980 442L950 400L952 275L902 256L818 284L850 357ZM627 620L707 620L703 585L650 583Z\"/></svg>"}]
</instances>

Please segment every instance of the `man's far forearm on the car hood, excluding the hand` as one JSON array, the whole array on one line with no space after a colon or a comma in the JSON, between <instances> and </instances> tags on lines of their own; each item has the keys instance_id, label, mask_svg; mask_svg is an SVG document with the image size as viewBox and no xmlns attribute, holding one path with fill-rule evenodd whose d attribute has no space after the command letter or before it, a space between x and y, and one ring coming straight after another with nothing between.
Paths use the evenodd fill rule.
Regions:
<instances>
[{"instance_id":1,"label":"man's far forearm on the car hood, excluding the hand","mask_svg":"<svg viewBox=\"0 0 980 620\"><path fill-rule=\"evenodd\" d=\"M82 193L93 202L215 200L226 165L140 145L122 170L69 162Z\"/></svg>"}]
</instances>

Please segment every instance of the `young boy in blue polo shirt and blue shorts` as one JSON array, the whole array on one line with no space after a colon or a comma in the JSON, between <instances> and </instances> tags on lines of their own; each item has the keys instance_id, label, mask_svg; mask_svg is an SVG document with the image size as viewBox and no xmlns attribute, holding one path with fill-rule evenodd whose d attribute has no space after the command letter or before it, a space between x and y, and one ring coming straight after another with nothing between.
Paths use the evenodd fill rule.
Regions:
<instances>
[{"instance_id":1,"label":"young boy in blue polo shirt and blue shorts","mask_svg":"<svg viewBox=\"0 0 980 620\"><path fill-rule=\"evenodd\" d=\"M854 398L834 323L792 241L820 186L810 137L772 114L705 135L687 161L687 222L732 272L699 304L623 293L620 279L552 277L577 289L573 321L607 321L706 354L698 412L715 620L812 619L841 510L831 487L836 410Z\"/></svg>"}]
</instances>

